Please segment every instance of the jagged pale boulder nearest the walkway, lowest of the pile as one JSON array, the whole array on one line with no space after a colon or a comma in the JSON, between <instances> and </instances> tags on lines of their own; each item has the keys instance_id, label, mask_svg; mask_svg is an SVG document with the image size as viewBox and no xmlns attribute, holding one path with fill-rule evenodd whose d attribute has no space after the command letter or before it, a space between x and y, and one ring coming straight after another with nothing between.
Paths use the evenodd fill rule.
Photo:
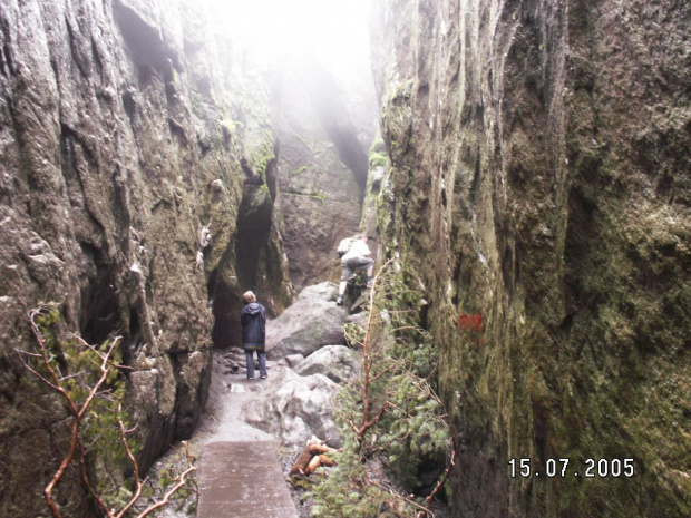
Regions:
<instances>
[{"instance_id":1,"label":"jagged pale boulder nearest the walkway, lowest of the pile","mask_svg":"<svg viewBox=\"0 0 691 518\"><path fill-rule=\"evenodd\" d=\"M340 387L322 374L286 378L275 391L266 392L260 404L253 402L243 408L245 421L274 434L285 446L302 448L314 434L340 447L331 407L331 398Z\"/></svg>"}]
</instances>

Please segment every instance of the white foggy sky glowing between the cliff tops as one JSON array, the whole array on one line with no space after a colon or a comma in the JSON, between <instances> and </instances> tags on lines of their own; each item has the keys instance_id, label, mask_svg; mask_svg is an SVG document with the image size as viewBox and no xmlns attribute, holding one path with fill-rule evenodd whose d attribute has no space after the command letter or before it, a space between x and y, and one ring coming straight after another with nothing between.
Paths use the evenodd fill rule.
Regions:
<instances>
[{"instance_id":1,"label":"white foggy sky glowing between the cliff tops","mask_svg":"<svg viewBox=\"0 0 691 518\"><path fill-rule=\"evenodd\" d=\"M350 60L369 46L371 0L208 0L225 30L260 56L310 50Z\"/></svg>"}]
</instances>

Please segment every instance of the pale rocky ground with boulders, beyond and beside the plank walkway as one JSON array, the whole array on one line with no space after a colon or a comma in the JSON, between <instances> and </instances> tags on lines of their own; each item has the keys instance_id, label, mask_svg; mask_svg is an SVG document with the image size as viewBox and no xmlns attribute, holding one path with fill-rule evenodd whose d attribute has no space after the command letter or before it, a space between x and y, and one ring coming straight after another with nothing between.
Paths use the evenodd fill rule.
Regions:
<instances>
[{"instance_id":1,"label":"pale rocky ground with boulders, beyond and beside the plank walkway","mask_svg":"<svg viewBox=\"0 0 691 518\"><path fill-rule=\"evenodd\" d=\"M354 351L343 345L346 313L334 299L333 284L310 286L279 319L267 323L266 380L246 379L242 350L216 351L207 407L188 441L197 466L204 463L201 453L208 442L273 441L301 517L309 516L310 506L300 501L304 491L288 481L288 471L312 434L338 446L329 401L339 390L338 382L357 375L359 369ZM149 477L156 483L182 459L183 448L171 451L155 463ZM193 500L192 496L168 506L158 516L194 516Z\"/></svg>"}]
</instances>

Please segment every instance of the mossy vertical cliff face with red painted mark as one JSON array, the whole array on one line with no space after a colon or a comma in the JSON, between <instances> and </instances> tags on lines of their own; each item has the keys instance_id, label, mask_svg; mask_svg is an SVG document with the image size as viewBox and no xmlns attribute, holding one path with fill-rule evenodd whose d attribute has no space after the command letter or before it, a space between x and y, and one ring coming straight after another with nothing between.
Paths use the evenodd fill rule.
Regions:
<instances>
[{"instance_id":1,"label":"mossy vertical cliff face with red painted mark","mask_svg":"<svg viewBox=\"0 0 691 518\"><path fill-rule=\"evenodd\" d=\"M691 9L378 3L380 229L429 301L455 512L688 516Z\"/></svg>"}]
</instances>

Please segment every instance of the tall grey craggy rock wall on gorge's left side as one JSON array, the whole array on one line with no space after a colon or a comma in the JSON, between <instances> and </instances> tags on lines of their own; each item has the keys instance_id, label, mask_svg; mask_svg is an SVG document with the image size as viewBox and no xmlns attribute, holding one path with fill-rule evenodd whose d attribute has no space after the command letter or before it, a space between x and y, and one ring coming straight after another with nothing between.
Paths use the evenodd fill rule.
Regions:
<instances>
[{"instance_id":1,"label":"tall grey craggy rock wall on gorge's left side","mask_svg":"<svg viewBox=\"0 0 691 518\"><path fill-rule=\"evenodd\" d=\"M13 352L32 343L29 309L57 301L87 341L123 336L145 471L204 408L214 316L224 345L256 278L275 311L290 301L273 155L206 20L177 1L0 4L2 516L46 512L65 446L60 402ZM261 240L239 253L257 206ZM93 516L76 471L59 492Z\"/></svg>"}]
</instances>

